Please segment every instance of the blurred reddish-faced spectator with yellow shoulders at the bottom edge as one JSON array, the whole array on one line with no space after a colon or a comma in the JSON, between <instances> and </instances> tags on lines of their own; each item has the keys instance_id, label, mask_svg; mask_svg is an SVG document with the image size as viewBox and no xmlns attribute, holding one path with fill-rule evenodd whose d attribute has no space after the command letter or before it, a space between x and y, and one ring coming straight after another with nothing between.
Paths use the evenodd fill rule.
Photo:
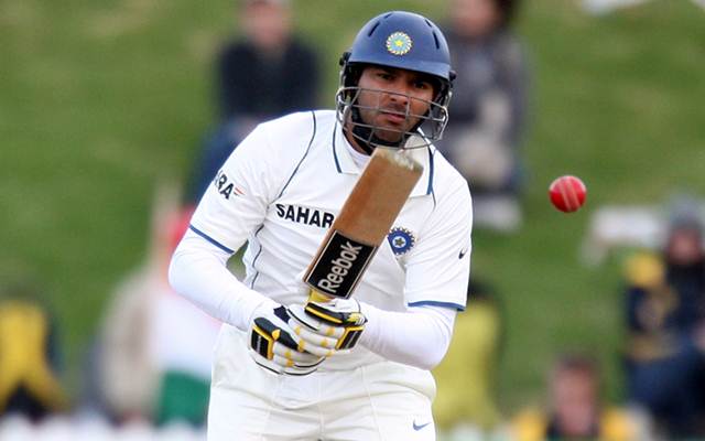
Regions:
<instances>
[{"instance_id":1,"label":"blurred reddish-faced spectator with yellow shoulders at the bottom edge","mask_svg":"<svg viewBox=\"0 0 705 441\"><path fill-rule=\"evenodd\" d=\"M517 441L644 441L642 423L626 410L606 408L599 396L599 372L589 357L564 355L549 378L546 410L527 410L512 426Z\"/></svg>"}]
</instances>

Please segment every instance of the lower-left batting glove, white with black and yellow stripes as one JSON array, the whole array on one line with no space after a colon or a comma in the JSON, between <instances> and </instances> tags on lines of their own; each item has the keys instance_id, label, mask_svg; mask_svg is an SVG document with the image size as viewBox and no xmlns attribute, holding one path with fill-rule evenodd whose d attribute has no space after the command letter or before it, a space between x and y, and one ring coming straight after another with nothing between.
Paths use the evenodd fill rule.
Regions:
<instances>
[{"instance_id":1,"label":"lower-left batting glove, white with black and yellow stripes","mask_svg":"<svg viewBox=\"0 0 705 441\"><path fill-rule=\"evenodd\" d=\"M304 342L288 322L284 306L261 306L250 323L250 356L258 365L275 374L307 375L316 370L323 357L304 352Z\"/></svg>"}]
</instances>

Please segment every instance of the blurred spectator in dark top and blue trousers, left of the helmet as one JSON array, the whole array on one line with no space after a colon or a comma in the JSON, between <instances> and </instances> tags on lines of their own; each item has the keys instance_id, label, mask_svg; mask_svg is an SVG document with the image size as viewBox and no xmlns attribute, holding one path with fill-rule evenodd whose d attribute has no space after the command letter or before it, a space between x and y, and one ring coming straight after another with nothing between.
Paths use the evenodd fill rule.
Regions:
<instances>
[{"instance_id":1,"label":"blurred spectator in dark top and blue trousers, left of the helmet","mask_svg":"<svg viewBox=\"0 0 705 441\"><path fill-rule=\"evenodd\" d=\"M245 35L227 44L217 60L220 122L195 171L193 202L258 123L317 105L317 55L292 33L291 1L240 3L238 28Z\"/></svg>"}]
</instances>

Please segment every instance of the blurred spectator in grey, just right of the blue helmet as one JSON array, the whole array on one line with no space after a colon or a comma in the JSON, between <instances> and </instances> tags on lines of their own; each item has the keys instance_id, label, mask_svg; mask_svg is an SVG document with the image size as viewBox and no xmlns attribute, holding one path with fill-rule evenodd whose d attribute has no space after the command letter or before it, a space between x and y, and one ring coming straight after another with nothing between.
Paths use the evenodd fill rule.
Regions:
<instances>
[{"instance_id":1,"label":"blurred spectator in grey, just right of the blue helmet","mask_svg":"<svg viewBox=\"0 0 705 441\"><path fill-rule=\"evenodd\" d=\"M474 223L514 230L521 225L528 74L510 31L519 0L452 0L448 46L457 78L451 123L438 148L468 180Z\"/></svg>"}]
</instances>

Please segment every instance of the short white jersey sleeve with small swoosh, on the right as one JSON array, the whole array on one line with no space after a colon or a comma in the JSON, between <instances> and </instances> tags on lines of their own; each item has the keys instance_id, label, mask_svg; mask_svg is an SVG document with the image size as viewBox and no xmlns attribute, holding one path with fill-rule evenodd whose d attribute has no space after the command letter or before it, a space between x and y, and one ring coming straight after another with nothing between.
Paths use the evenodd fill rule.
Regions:
<instances>
[{"instance_id":1,"label":"short white jersey sleeve with small swoosh, on the right","mask_svg":"<svg viewBox=\"0 0 705 441\"><path fill-rule=\"evenodd\" d=\"M408 257L404 297L409 306L465 309L473 209L467 184L456 182L453 191L436 202Z\"/></svg>"}]
</instances>

